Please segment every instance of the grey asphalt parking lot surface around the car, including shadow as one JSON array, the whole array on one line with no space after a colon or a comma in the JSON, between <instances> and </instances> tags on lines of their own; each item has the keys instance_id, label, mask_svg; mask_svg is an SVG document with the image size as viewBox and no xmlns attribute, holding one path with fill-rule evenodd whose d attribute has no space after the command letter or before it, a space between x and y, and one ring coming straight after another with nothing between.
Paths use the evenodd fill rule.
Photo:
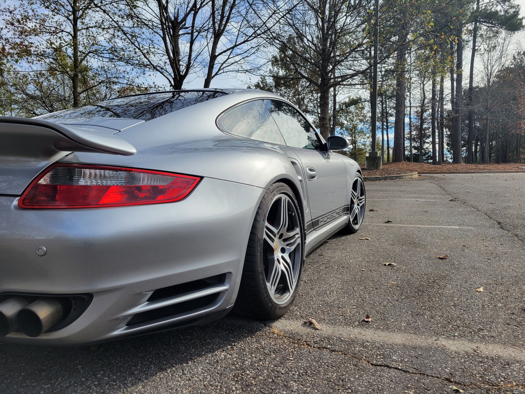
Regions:
<instances>
[{"instance_id":1,"label":"grey asphalt parking lot surface around the car, including shadow","mask_svg":"<svg viewBox=\"0 0 525 394\"><path fill-rule=\"evenodd\" d=\"M0 393L525 392L525 173L366 188L361 231L307 257L284 318L96 348L0 344Z\"/></svg>"}]
</instances>

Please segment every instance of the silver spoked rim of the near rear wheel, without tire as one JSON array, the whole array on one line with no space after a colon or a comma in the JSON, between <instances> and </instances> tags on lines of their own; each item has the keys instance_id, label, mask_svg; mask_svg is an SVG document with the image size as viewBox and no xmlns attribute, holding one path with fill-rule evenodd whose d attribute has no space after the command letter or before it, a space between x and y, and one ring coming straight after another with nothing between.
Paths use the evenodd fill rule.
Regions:
<instances>
[{"instance_id":1,"label":"silver spoked rim of the near rear wheel, without tire","mask_svg":"<svg viewBox=\"0 0 525 394\"><path fill-rule=\"evenodd\" d=\"M303 234L296 205L285 193L275 196L265 220L263 260L266 286L276 304L293 295L301 268Z\"/></svg>"}]
</instances>

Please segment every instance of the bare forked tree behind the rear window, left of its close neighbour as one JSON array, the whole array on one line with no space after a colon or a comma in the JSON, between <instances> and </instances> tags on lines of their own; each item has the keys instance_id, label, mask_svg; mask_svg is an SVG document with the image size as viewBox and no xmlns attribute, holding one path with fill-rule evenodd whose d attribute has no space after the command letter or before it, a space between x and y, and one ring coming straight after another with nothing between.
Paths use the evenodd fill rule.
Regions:
<instances>
[{"instance_id":1,"label":"bare forked tree behind the rear window, left of its close neighbour","mask_svg":"<svg viewBox=\"0 0 525 394\"><path fill-rule=\"evenodd\" d=\"M172 89L182 89L195 75L206 49L211 0L94 0L111 26L130 46L120 60L164 77Z\"/></svg>"}]
</instances>

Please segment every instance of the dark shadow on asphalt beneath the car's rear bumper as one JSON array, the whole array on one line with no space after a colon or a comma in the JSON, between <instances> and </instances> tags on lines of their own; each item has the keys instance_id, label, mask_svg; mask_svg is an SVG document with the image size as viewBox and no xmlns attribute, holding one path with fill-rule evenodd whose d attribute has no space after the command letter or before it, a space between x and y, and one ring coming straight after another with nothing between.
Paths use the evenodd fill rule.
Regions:
<instances>
[{"instance_id":1,"label":"dark shadow on asphalt beneath the car's rear bumper","mask_svg":"<svg viewBox=\"0 0 525 394\"><path fill-rule=\"evenodd\" d=\"M114 392L227 349L265 327L226 316L182 328L83 347L0 344L0 392ZM217 356L218 359L219 356Z\"/></svg>"}]
</instances>

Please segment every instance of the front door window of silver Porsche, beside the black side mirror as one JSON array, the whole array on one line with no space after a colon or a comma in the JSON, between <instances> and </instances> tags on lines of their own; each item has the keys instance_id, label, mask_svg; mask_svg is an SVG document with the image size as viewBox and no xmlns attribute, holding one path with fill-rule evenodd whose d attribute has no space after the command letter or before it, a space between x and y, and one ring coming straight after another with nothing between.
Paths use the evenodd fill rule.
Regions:
<instances>
[{"instance_id":1,"label":"front door window of silver Porsche, beside the black side mirror","mask_svg":"<svg viewBox=\"0 0 525 394\"><path fill-rule=\"evenodd\" d=\"M286 144L293 148L318 149L319 140L310 123L291 105L279 100L264 100Z\"/></svg>"}]
</instances>

